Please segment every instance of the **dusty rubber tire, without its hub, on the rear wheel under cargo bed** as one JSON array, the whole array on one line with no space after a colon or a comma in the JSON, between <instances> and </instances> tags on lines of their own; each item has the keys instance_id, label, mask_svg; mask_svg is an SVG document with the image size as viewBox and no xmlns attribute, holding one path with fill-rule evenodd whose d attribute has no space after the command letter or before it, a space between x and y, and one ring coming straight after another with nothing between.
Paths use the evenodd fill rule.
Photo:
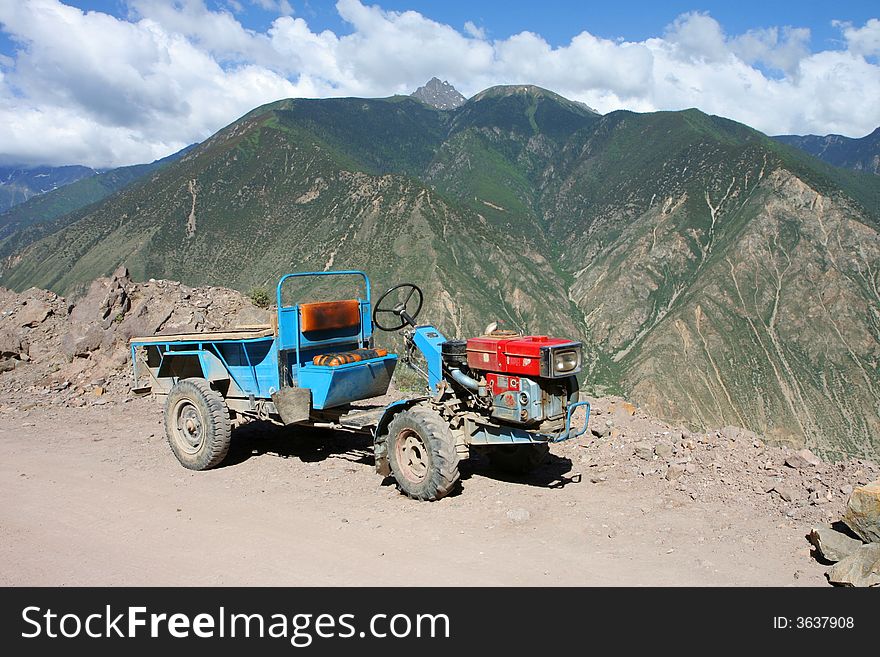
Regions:
<instances>
[{"instance_id":1,"label":"dusty rubber tire, without its hub, on the rear wheel under cargo bed","mask_svg":"<svg viewBox=\"0 0 880 657\"><path fill-rule=\"evenodd\" d=\"M184 400L195 406L205 431L205 438L195 453L183 449L179 442L180 438L172 429L176 422L171 417L174 408ZM226 408L223 396L211 388L211 384L205 379L178 381L171 388L165 401L165 436L174 456L189 470L208 470L222 463L229 452L229 443L232 440L229 410Z\"/></svg>"}]
</instances>

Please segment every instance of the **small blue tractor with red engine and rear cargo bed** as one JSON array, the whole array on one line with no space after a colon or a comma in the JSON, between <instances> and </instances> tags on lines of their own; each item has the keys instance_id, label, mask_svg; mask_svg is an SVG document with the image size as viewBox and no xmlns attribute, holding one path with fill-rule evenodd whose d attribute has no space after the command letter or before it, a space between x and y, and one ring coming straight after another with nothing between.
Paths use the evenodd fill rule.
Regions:
<instances>
[{"instance_id":1,"label":"small blue tractor with red engine and rear cargo bed","mask_svg":"<svg viewBox=\"0 0 880 657\"><path fill-rule=\"evenodd\" d=\"M285 303L288 282L322 276L360 277L358 298ZM418 500L453 491L471 450L522 473L547 458L549 443L586 431L580 342L497 330L450 340L416 324L422 301L402 283L373 306L361 271L287 274L270 326L132 338L133 392L164 399L168 443L186 468L219 465L238 423L323 427L370 435L376 471ZM387 393L398 360L375 348L374 326L403 331L403 360L425 378L424 394L369 404Z\"/></svg>"}]
</instances>

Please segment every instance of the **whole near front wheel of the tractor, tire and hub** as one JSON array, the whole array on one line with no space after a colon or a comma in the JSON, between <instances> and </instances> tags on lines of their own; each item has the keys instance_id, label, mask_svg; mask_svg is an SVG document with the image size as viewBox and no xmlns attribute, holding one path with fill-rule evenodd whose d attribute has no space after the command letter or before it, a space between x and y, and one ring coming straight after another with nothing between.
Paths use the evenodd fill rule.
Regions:
<instances>
[{"instance_id":1,"label":"whole near front wheel of the tractor, tire and hub","mask_svg":"<svg viewBox=\"0 0 880 657\"><path fill-rule=\"evenodd\" d=\"M424 406L402 411L388 425L388 464L402 493L434 501L459 480L455 438L446 421Z\"/></svg>"}]
</instances>

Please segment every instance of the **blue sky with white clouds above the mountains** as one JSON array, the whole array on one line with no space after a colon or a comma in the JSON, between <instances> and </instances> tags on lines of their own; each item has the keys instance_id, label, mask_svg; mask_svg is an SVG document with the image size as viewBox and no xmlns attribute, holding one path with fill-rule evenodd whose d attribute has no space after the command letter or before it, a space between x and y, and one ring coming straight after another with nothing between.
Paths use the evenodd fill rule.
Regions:
<instances>
[{"instance_id":1,"label":"blue sky with white clouds above the mountains","mask_svg":"<svg viewBox=\"0 0 880 657\"><path fill-rule=\"evenodd\" d=\"M0 163L149 162L273 100L433 76L861 137L880 126L880 3L0 0Z\"/></svg>"}]
</instances>

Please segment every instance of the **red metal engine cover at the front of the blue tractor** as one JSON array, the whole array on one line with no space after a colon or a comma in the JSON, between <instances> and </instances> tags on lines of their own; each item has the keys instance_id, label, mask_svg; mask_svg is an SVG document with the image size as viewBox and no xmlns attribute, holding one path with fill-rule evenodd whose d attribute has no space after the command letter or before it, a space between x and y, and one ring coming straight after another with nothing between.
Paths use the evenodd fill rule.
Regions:
<instances>
[{"instance_id":1,"label":"red metal engine cover at the front of the blue tractor","mask_svg":"<svg viewBox=\"0 0 880 657\"><path fill-rule=\"evenodd\" d=\"M572 356L574 354L574 356ZM566 367L554 367L566 355ZM467 362L472 370L558 378L577 374L581 369L581 343L546 335L482 335L467 341Z\"/></svg>"}]
</instances>

